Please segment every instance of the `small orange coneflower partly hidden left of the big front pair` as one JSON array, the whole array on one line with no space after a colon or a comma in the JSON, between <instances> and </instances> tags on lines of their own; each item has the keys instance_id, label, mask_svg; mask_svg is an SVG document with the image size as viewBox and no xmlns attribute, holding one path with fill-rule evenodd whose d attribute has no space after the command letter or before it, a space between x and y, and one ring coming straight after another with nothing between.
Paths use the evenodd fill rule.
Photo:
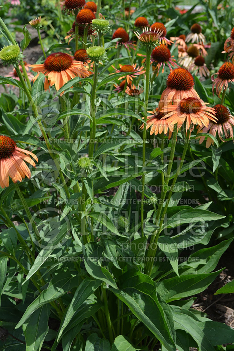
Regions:
<instances>
[{"instance_id":1,"label":"small orange coneflower partly hidden left of the big front pair","mask_svg":"<svg viewBox=\"0 0 234 351\"><path fill-rule=\"evenodd\" d=\"M165 113L160 111L158 108L153 111L148 111L149 113L152 113L147 117L147 122L146 122L146 129L151 127L150 130L150 135L152 134L161 134L162 132L166 134L169 130L169 137L171 136L171 132L173 130L170 130L169 125L167 123L167 119L164 119ZM144 125L142 124L140 126L141 129L143 129Z\"/></svg>"}]
</instances>

